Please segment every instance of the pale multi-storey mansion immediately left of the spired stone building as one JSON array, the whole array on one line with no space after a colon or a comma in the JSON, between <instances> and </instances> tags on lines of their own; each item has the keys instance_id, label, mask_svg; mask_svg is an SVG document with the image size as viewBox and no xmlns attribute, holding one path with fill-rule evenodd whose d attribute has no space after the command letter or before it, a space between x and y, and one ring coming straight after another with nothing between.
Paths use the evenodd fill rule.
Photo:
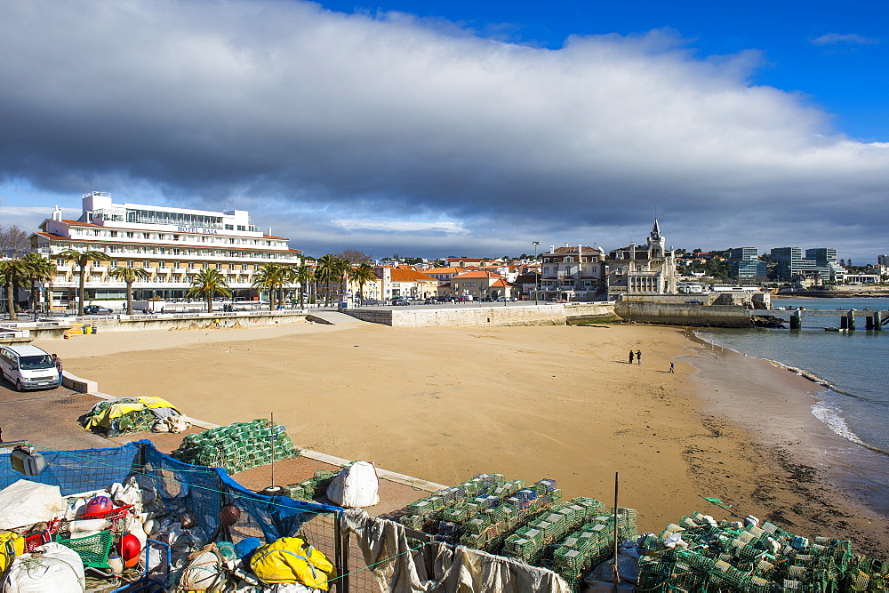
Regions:
<instances>
[{"instance_id":1,"label":"pale multi-storey mansion immediately left of the spired stone building","mask_svg":"<svg viewBox=\"0 0 889 593\"><path fill-rule=\"evenodd\" d=\"M593 301L605 286L605 250L587 245L550 245L541 254L540 298Z\"/></svg>"}]
</instances>

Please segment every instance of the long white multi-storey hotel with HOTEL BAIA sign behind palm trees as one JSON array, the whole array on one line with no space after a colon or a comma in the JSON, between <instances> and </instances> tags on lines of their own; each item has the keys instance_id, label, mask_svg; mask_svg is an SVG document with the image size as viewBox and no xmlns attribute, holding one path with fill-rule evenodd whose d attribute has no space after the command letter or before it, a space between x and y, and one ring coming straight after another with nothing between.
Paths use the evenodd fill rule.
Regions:
<instances>
[{"instance_id":1,"label":"long white multi-storey hotel with HOTEL BAIA sign behind palm trees","mask_svg":"<svg viewBox=\"0 0 889 593\"><path fill-rule=\"evenodd\" d=\"M271 229L269 229L269 233ZM288 239L264 234L250 223L248 212L212 212L142 204L114 204L111 195L84 194L83 214L64 220L56 208L31 236L32 247L53 260L53 302L65 305L76 294L77 266L55 256L66 249L105 252L110 261L92 262L85 270L85 299L122 299L126 284L108 276L118 266L143 268L148 280L133 284L133 298L183 299L194 275L216 268L235 298L258 300L251 287L260 265L298 265L301 252ZM61 301L61 302L59 302Z\"/></svg>"}]
</instances>

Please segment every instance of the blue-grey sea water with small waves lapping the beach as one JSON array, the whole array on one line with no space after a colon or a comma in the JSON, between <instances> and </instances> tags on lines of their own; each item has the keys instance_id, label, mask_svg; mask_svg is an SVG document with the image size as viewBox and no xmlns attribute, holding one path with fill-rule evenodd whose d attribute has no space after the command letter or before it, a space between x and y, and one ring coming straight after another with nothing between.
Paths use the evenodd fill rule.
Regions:
<instances>
[{"instance_id":1,"label":"blue-grey sea water with small waves lapping the beach","mask_svg":"<svg viewBox=\"0 0 889 593\"><path fill-rule=\"evenodd\" d=\"M773 299L773 306L805 309L889 310L889 299ZM889 327L825 332L838 317L805 317L800 330L707 329L702 339L749 356L773 360L829 385L815 394L812 413L850 444L839 461L841 479L858 498L889 517Z\"/></svg>"}]
</instances>

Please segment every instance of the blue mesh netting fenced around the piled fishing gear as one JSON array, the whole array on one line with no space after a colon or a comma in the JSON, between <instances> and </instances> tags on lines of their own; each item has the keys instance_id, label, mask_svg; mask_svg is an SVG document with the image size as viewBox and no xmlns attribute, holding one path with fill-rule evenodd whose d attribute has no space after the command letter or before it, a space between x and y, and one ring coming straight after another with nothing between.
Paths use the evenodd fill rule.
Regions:
<instances>
[{"instance_id":1,"label":"blue mesh netting fenced around the piled fishing gear","mask_svg":"<svg viewBox=\"0 0 889 593\"><path fill-rule=\"evenodd\" d=\"M274 541L292 536L315 517L340 512L340 507L294 501L284 496L252 493L228 476L224 469L204 468L174 460L157 451L149 441L135 441L109 449L41 452L46 469L39 476L24 477L14 469L9 454L0 455L0 488L24 478L58 485L63 496L108 488L137 474L151 478L157 495L169 509L195 513L197 526L207 534L220 525L220 509L235 505L240 519L232 526L233 539L261 536Z\"/></svg>"}]
</instances>

